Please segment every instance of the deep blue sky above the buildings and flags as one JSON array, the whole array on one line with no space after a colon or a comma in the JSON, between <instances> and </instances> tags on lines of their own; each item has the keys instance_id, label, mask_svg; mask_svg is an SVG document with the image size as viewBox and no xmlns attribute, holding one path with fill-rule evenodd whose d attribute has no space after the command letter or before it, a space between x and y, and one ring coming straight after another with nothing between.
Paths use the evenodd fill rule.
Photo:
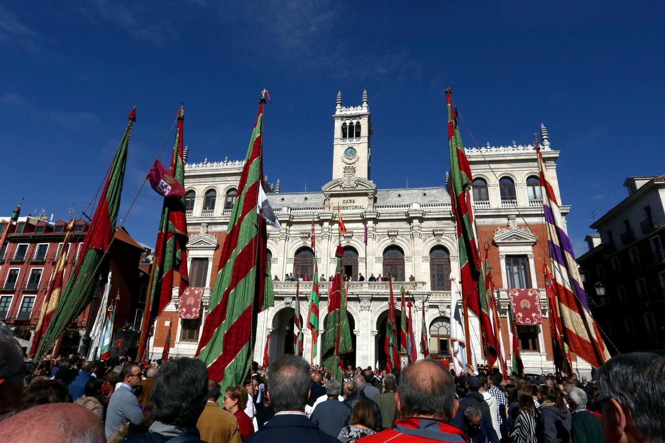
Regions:
<instances>
[{"instance_id":1,"label":"deep blue sky above the buildings and flags","mask_svg":"<svg viewBox=\"0 0 665 443\"><path fill-rule=\"evenodd\" d=\"M624 198L624 177L665 173L664 23L648 0L5 1L0 209L84 209L138 100L124 217L181 102L190 161L240 159L264 87L265 171L282 191L329 181L336 92L356 105L364 88L378 187L442 185L452 85L481 145L530 143L545 123L583 252L589 214ZM144 189L130 234L154 244L160 209Z\"/></svg>"}]
</instances>

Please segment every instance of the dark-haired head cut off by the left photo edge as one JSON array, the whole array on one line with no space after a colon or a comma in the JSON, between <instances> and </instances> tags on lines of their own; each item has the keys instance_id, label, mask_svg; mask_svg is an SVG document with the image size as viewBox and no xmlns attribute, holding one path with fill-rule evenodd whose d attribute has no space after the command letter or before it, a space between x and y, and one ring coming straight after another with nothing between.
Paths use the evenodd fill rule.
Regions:
<instances>
[{"instance_id":1,"label":"dark-haired head cut off by the left photo edge","mask_svg":"<svg viewBox=\"0 0 665 443\"><path fill-rule=\"evenodd\" d=\"M21 406L24 372L21 345L11 335L0 333L0 414Z\"/></svg>"}]
</instances>

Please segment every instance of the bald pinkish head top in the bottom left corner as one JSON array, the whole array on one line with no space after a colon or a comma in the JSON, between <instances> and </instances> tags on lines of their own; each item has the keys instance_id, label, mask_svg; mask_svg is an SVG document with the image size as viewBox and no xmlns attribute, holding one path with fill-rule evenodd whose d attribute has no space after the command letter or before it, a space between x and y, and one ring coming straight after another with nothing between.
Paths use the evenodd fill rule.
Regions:
<instances>
[{"instance_id":1,"label":"bald pinkish head top in the bottom left corner","mask_svg":"<svg viewBox=\"0 0 665 443\"><path fill-rule=\"evenodd\" d=\"M92 412L78 404L52 403L29 408L0 422L5 443L104 443L104 426Z\"/></svg>"}]
</instances>

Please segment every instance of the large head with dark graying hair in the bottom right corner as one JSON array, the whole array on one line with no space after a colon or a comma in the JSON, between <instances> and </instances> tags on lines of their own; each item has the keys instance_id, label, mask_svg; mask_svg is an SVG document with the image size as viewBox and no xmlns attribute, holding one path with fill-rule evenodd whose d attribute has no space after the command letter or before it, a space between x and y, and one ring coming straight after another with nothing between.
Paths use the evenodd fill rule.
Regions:
<instances>
[{"instance_id":1,"label":"large head with dark graying hair in the bottom right corner","mask_svg":"<svg viewBox=\"0 0 665 443\"><path fill-rule=\"evenodd\" d=\"M598 370L606 443L665 442L665 357L634 352Z\"/></svg>"}]
</instances>

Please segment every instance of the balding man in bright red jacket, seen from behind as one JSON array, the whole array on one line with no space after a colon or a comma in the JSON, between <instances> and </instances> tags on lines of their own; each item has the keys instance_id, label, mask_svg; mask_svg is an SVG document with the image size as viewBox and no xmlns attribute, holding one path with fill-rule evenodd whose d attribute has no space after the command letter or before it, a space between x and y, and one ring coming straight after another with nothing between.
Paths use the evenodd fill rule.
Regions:
<instances>
[{"instance_id":1,"label":"balding man in bright red jacket, seen from behind","mask_svg":"<svg viewBox=\"0 0 665 443\"><path fill-rule=\"evenodd\" d=\"M455 381L438 361L410 363L400 374L395 403L400 418L392 429L365 436L362 443L466 441L464 432L448 424L459 404Z\"/></svg>"}]
</instances>

